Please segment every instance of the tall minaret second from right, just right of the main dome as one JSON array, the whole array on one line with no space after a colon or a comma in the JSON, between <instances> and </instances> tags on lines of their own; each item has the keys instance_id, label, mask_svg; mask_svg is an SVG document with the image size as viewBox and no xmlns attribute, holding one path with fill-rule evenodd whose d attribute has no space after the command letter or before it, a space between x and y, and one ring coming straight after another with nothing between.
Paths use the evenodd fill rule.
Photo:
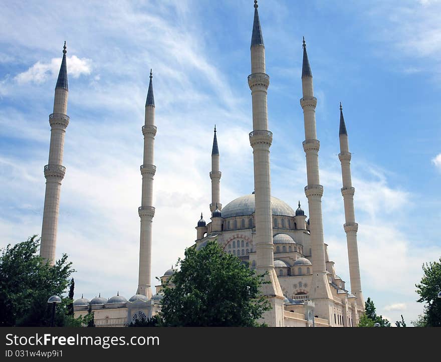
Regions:
<instances>
[{"instance_id":1,"label":"tall minaret second from right, just right of the main dome","mask_svg":"<svg viewBox=\"0 0 441 362\"><path fill-rule=\"evenodd\" d=\"M305 141L303 141L303 149L306 153L306 172L308 178L308 186L305 187L305 194L308 198L309 206L309 230L311 233L313 272L309 294L315 303L314 312L331 322L333 307L332 301L329 299L332 299L332 294L326 277L325 248L323 243L323 186L320 185L318 159L320 142L317 139L315 124L317 98L314 97L312 72L309 65L308 54L306 53L305 38L303 38L302 88L303 98L300 99L300 105L303 108L305 121Z\"/></svg>"}]
</instances>

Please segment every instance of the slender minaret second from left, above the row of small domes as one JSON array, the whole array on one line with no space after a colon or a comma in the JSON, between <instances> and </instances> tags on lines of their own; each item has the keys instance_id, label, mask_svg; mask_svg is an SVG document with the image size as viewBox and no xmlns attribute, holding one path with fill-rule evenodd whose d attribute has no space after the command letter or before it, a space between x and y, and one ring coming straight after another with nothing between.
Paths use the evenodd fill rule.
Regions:
<instances>
[{"instance_id":1,"label":"slender minaret second from left, above the row of small domes","mask_svg":"<svg viewBox=\"0 0 441 362\"><path fill-rule=\"evenodd\" d=\"M152 296L151 282L151 239L152 222L155 208L152 207L153 176L156 166L153 164L155 126L155 100L153 98L152 71L150 69L150 83L148 85L147 100L145 102L145 121L142 126L144 135L144 163L141 165L142 196L138 214L141 218L141 232L139 238L139 278L137 294Z\"/></svg>"}]
</instances>

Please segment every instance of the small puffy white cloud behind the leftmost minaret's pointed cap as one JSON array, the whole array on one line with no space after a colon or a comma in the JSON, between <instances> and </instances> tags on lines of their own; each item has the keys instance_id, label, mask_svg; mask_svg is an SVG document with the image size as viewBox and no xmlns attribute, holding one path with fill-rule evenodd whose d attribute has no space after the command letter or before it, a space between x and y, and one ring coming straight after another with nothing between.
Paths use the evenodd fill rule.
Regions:
<instances>
[{"instance_id":1,"label":"small puffy white cloud behind the leftmost minaret's pointed cap","mask_svg":"<svg viewBox=\"0 0 441 362\"><path fill-rule=\"evenodd\" d=\"M87 58L78 58L76 55L67 57L67 69L69 77L78 78L82 74L90 74L92 61ZM49 63L38 61L27 71L17 74L15 80L20 83L43 83L48 79L58 76L60 71L61 57L52 58Z\"/></svg>"}]
</instances>

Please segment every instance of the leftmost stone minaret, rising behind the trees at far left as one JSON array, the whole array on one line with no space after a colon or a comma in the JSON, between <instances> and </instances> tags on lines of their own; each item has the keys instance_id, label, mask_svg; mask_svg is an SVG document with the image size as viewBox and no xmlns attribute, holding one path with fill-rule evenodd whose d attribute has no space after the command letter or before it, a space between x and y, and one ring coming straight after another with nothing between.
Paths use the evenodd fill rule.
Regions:
<instances>
[{"instance_id":1,"label":"leftmost stone minaret, rising behind the trees at far left","mask_svg":"<svg viewBox=\"0 0 441 362\"><path fill-rule=\"evenodd\" d=\"M60 73L58 74L55 86L54 112L49 115L51 144L49 146L49 161L45 166L46 192L40 256L51 265L55 263L61 182L66 172L66 167L62 165L64 135L69 124L69 116L66 115L67 96L69 93L66 53L66 42L64 42L63 60L61 61Z\"/></svg>"}]
</instances>

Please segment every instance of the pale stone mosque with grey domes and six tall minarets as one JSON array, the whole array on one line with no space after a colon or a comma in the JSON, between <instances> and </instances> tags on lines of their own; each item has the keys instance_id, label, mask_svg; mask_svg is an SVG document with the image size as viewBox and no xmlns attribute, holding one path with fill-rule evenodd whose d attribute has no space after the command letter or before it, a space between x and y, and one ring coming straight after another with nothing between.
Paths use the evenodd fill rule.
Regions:
<instances>
[{"instance_id":1,"label":"pale stone mosque with grey domes and six tall minarets","mask_svg":"<svg viewBox=\"0 0 441 362\"><path fill-rule=\"evenodd\" d=\"M270 77L265 73L265 46L259 20L258 4L254 4L254 24L251 38L251 74L248 84L252 94L253 130L249 134L254 158L255 190L231 201L225 207L220 203L220 153L214 127L211 152L211 203L210 222L200 216L196 225L194 247L203 248L211 240L226 253L237 256L257 273L266 273L267 280L261 292L270 304L271 310L264 313L262 321L269 326L356 326L364 301L361 292L360 271L357 250L358 224L355 222L351 183L348 134L340 104L340 153L342 169L341 193L344 202L349 275L351 292L345 282L336 274L334 262L328 255L324 243L318 152L320 142L316 136L313 77L303 40L302 97L300 105L304 112L307 186L309 219L300 202L297 209L271 195L270 146L272 132L269 130L267 113L267 91ZM61 182L65 176L63 143L69 117L66 115L68 78L66 44L55 88L54 111L49 116L51 141L49 162L44 167L46 194L40 255L54 263ZM125 326L142 317L151 317L160 309L161 286L151 291L151 244L155 208L152 206L153 164L155 126L155 102L153 96L152 72L145 104L145 119L142 126L144 136L144 158L140 166L142 175L141 206L138 214L141 220L139 277L136 294L129 300L117 294L106 299L99 295L91 299L81 297L74 301L75 315L85 315L89 308L94 312L96 326ZM161 277L172 283L174 269L167 270Z\"/></svg>"}]
</instances>

